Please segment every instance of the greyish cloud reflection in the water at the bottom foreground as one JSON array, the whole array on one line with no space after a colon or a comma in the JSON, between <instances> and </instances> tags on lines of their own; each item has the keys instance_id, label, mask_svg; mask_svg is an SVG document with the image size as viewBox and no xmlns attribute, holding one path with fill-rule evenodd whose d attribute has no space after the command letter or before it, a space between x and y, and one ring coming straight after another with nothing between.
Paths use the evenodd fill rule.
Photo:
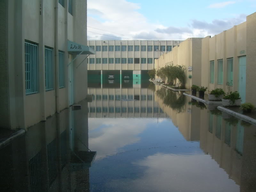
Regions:
<instances>
[{"instance_id":1,"label":"greyish cloud reflection in the water at the bottom foreground","mask_svg":"<svg viewBox=\"0 0 256 192\"><path fill-rule=\"evenodd\" d=\"M170 155L157 153L133 164L146 167L138 179L112 180L115 191L147 192L238 192L239 186L210 155Z\"/></svg>"}]
</instances>

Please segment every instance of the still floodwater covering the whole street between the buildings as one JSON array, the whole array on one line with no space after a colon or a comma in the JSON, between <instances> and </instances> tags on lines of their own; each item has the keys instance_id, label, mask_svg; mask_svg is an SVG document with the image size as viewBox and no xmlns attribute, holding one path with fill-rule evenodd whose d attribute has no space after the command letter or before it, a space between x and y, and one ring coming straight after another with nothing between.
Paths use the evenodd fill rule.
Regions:
<instances>
[{"instance_id":1,"label":"still floodwater covering the whole street between the buildings","mask_svg":"<svg viewBox=\"0 0 256 192\"><path fill-rule=\"evenodd\" d=\"M0 149L0 191L256 191L254 125L154 84L88 93Z\"/></svg>"}]
</instances>

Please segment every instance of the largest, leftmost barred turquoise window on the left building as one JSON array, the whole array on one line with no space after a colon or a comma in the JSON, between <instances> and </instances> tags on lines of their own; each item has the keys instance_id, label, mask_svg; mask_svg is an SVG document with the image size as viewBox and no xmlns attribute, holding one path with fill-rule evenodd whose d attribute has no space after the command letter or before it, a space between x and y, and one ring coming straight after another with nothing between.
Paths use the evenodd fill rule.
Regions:
<instances>
[{"instance_id":1,"label":"largest, leftmost barred turquoise window on the left building","mask_svg":"<svg viewBox=\"0 0 256 192\"><path fill-rule=\"evenodd\" d=\"M25 84L26 94L38 92L37 45L25 42Z\"/></svg>"}]
</instances>

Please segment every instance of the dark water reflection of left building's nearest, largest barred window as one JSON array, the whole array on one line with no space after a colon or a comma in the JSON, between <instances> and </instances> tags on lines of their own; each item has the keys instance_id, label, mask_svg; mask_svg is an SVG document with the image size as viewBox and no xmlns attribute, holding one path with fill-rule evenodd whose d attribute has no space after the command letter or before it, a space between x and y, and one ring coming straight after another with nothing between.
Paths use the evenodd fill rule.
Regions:
<instances>
[{"instance_id":1,"label":"dark water reflection of left building's nearest, largest barred window","mask_svg":"<svg viewBox=\"0 0 256 192\"><path fill-rule=\"evenodd\" d=\"M41 192L41 151L32 157L28 164L31 192Z\"/></svg>"}]
</instances>

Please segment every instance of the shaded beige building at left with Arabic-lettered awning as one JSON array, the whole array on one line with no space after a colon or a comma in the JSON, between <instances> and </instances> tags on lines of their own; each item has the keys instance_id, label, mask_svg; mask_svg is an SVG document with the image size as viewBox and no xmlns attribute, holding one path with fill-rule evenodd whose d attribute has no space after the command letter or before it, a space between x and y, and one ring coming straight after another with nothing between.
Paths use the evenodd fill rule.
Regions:
<instances>
[{"instance_id":1,"label":"shaded beige building at left with Arabic-lettered awning","mask_svg":"<svg viewBox=\"0 0 256 192\"><path fill-rule=\"evenodd\" d=\"M84 55L94 53L85 46L87 1L3 0L0 7L0 127L26 129L86 97Z\"/></svg>"}]
</instances>

